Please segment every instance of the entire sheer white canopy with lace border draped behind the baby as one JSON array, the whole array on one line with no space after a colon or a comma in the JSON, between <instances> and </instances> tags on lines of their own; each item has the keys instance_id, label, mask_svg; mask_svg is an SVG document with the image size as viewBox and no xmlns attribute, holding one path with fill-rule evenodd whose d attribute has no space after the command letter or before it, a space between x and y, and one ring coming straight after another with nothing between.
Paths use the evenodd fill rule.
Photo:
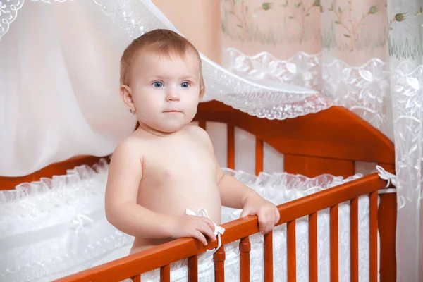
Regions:
<instances>
[{"instance_id":1,"label":"entire sheer white canopy with lace border draped behind the baby","mask_svg":"<svg viewBox=\"0 0 423 282\"><path fill-rule=\"evenodd\" d=\"M148 0L1 1L6 118L0 175L23 176L78 154L113 152L135 125L119 101L118 61L130 40L155 28L178 32ZM269 119L331 106L315 90L247 80L201 58L204 101Z\"/></svg>"}]
</instances>

